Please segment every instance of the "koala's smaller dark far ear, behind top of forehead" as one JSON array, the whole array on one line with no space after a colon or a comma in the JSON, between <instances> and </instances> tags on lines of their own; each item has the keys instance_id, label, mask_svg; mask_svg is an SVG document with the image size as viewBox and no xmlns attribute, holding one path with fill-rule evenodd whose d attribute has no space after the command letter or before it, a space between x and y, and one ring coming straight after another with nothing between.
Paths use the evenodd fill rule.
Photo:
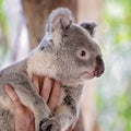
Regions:
<instances>
[{"instance_id":1,"label":"koala's smaller dark far ear, behind top of forehead","mask_svg":"<svg viewBox=\"0 0 131 131\"><path fill-rule=\"evenodd\" d=\"M94 28L96 27L96 23L95 22L83 22L83 23L80 23L80 26L84 27L88 33L90 35L93 37L94 35Z\"/></svg>"}]
</instances>

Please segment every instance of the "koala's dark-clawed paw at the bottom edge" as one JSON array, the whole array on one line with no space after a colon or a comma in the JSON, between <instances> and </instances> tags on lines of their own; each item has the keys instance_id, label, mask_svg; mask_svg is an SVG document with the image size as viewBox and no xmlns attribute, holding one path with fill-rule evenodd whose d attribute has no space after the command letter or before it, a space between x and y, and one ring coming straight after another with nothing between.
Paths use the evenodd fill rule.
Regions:
<instances>
[{"instance_id":1,"label":"koala's dark-clawed paw at the bottom edge","mask_svg":"<svg viewBox=\"0 0 131 131\"><path fill-rule=\"evenodd\" d=\"M41 120L39 129L39 131L61 131L60 124L52 118Z\"/></svg>"}]
</instances>

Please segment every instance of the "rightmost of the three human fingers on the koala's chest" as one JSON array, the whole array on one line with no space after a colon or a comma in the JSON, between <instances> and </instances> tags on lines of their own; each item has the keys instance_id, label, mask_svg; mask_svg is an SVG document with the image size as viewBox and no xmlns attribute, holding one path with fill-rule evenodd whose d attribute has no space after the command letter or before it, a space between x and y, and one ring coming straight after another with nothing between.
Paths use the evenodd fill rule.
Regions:
<instances>
[{"instance_id":1,"label":"rightmost of the three human fingers on the koala's chest","mask_svg":"<svg viewBox=\"0 0 131 131\"><path fill-rule=\"evenodd\" d=\"M59 100L59 97L60 97L60 92L61 92L60 82L55 81L52 92L51 92L51 95L50 95L49 102L48 102L48 106L51 110L53 110L55 107L58 104L58 100Z\"/></svg>"}]
</instances>

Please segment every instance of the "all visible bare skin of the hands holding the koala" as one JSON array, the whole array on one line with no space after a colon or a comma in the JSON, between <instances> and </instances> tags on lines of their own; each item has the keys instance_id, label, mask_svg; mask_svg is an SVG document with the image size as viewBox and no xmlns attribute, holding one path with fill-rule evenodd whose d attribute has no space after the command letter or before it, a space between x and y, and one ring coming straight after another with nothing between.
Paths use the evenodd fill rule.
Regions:
<instances>
[{"instance_id":1,"label":"all visible bare skin of the hands holding the koala","mask_svg":"<svg viewBox=\"0 0 131 131\"><path fill-rule=\"evenodd\" d=\"M45 76L43 78L41 88L39 88L38 81L39 76L34 74L32 82L36 93L44 97L50 110L53 111L60 97L60 82ZM35 118L32 110L21 103L12 86L5 85L4 88L15 106L15 131L35 131ZM71 127L68 131L71 131Z\"/></svg>"}]
</instances>

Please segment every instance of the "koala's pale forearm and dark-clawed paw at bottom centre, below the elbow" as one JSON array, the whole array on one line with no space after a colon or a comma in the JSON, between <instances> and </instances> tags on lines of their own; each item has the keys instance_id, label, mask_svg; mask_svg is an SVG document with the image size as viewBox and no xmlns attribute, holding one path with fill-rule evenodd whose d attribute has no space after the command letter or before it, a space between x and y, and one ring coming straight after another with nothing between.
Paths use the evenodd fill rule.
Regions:
<instances>
[{"instance_id":1,"label":"koala's pale forearm and dark-clawed paw at bottom centre, below the elbow","mask_svg":"<svg viewBox=\"0 0 131 131\"><path fill-rule=\"evenodd\" d=\"M73 108L73 110L71 109ZM40 131L66 131L67 128L76 119L76 108L67 105L59 106L58 115L52 118L45 118L40 122Z\"/></svg>"}]
</instances>

